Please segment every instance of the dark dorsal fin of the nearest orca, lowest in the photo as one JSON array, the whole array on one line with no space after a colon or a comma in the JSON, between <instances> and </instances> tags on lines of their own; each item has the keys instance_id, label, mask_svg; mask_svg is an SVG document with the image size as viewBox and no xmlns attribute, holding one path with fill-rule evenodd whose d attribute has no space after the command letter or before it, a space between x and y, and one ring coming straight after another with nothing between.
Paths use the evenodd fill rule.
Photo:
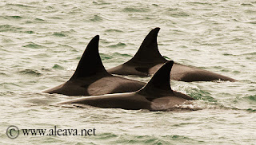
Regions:
<instances>
[{"instance_id":1,"label":"dark dorsal fin of the nearest orca, lowest in the photo","mask_svg":"<svg viewBox=\"0 0 256 145\"><path fill-rule=\"evenodd\" d=\"M165 96L166 94L172 93L173 90L170 88L170 70L173 65L174 61L167 61L137 93L144 96L150 96L150 98Z\"/></svg>"}]
</instances>

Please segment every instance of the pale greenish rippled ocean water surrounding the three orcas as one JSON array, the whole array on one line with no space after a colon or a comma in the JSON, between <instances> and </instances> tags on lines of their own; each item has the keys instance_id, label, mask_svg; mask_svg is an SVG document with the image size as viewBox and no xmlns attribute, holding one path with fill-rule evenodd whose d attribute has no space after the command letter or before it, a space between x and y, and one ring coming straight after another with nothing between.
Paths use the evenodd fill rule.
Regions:
<instances>
[{"instance_id":1,"label":"pale greenish rippled ocean water surrounding the three orcas","mask_svg":"<svg viewBox=\"0 0 256 145\"><path fill-rule=\"evenodd\" d=\"M70 78L95 35L111 68L133 57L155 27L169 60L238 81L171 81L197 99L195 111L66 108L51 104L76 97L42 93ZM1 0L0 144L256 144L255 69L254 0ZM10 125L96 130L10 139Z\"/></svg>"}]
</instances>

